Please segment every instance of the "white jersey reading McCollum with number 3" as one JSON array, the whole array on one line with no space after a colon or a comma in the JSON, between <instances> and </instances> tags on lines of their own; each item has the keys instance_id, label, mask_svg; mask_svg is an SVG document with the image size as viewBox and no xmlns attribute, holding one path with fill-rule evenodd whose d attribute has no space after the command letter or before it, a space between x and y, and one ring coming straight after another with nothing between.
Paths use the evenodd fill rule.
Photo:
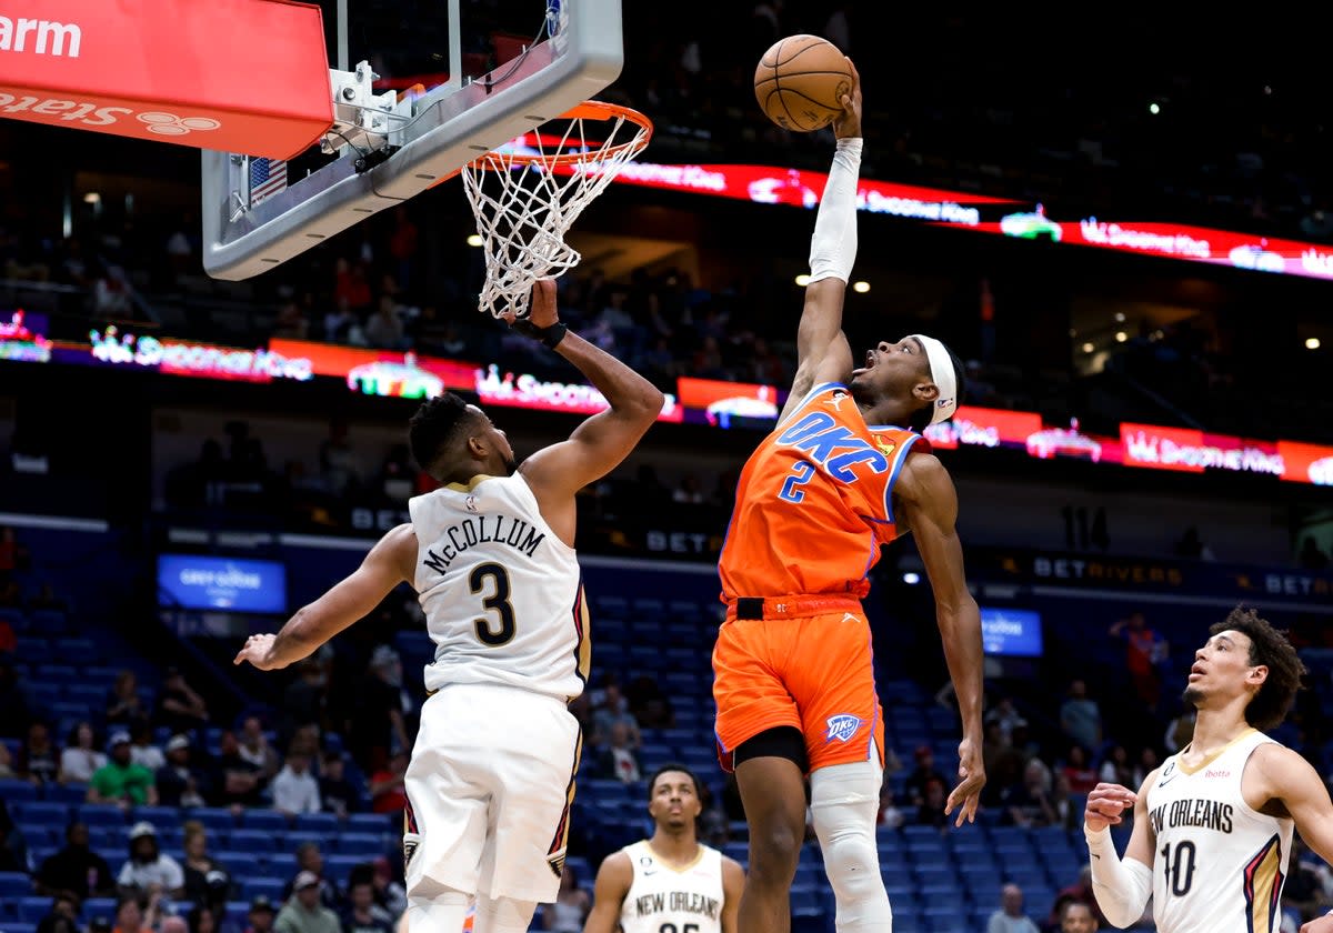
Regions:
<instances>
[{"instance_id":1,"label":"white jersey reading McCollum with number 3","mask_svg":"<svg viewBox=\"0 0 1333 933\"><path fill-rule=\"evenodd\" d=\"M477 476L408 501L416 590L435 641L425 686L503 684L568 701L588 677L588 614L573 548L521 473Z\"/></svg>"}]
</instances>

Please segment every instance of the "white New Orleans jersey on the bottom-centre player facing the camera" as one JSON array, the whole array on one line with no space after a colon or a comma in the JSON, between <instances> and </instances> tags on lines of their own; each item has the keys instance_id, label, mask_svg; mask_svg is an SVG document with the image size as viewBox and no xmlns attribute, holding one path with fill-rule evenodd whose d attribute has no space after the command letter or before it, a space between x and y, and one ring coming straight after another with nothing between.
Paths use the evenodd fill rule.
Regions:
<instances>
[{"instance_id":1,"label":"white New Orleans jersey on the bottom-centre player facing the camera","mask_svg":"<svg viewBox=\"0 0 1333 933\"><path fill-rule=\"evenodd\" d=\"M722 853L698 846L698 857L676 869L657 858L648 840L621 849L635 880L620 908L623 933L721 933Z\"/></svg>"}]
</instances>

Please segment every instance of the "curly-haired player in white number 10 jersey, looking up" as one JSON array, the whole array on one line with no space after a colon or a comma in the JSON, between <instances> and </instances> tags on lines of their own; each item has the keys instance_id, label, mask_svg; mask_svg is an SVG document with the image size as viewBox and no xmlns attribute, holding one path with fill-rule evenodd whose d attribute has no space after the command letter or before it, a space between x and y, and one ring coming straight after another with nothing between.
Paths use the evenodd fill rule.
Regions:
<instances>
[{"instance_id":1,"label":"curly-haired player in white number 10 jersey, looking up","mask_svg":"<svg viewBox=\"0 0 1333 933\"><path fill-rule=\"evenodd\" d=\"M1262 729L1286 716L1305 665L1253 609L1234 609L1194 653L1184 700L1198 710L1189 745L1138 793L1098 784L1084 833L1093 893L1108 922L1129 926L1149 894L1158 933L1276 933L1293 828L1333 862L1333 802L1310 764ZM1134 808L1121 861L1110 826ZM1333 916L1301 926L1333 933Z\"/></svg>"}]
</instances>

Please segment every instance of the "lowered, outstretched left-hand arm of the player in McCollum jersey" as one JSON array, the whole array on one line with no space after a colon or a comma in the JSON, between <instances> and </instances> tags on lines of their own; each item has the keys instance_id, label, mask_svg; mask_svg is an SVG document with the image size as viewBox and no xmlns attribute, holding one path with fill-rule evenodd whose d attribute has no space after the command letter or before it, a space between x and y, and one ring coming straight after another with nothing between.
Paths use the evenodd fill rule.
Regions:
<instances>
[{"instance_id":1,"label":"lowered, outstretched left-hand arm of the player in McCollum jersey","mask_svg":"<svg viewBox=\"0 0 1333 933\"><path fill-rule=\"evenodd\" d=\"M260 670L277 670L309 657L335 634L368 616L400 582L411 582L416 557L412 525L399 525L371 548L361 566L297 609L277 634L247 638L233 664L249 661Z\"/></svg>"}]
</instances>

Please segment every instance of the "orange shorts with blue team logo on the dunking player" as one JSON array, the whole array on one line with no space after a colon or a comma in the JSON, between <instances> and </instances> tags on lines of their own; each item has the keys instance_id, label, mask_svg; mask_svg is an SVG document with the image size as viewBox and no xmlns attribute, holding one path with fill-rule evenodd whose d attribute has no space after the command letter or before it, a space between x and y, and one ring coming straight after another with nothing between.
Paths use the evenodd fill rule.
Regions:
<instances>
[{"instance_id":1,"label":"orange shorts with blue team logo on the dunking player","mask_svg":"<svg viewBox=\"0 0 1333 933\"><path fill-rule=\"evenodd\" d=\"M764 618L736 618L713 648L717 758L766 729L805 736L809 769L884 765L884 716L874 693L870 624L853 597L769 597ZM873 742L873 744L872 744Z\"/></svg>"}]
</instances>

